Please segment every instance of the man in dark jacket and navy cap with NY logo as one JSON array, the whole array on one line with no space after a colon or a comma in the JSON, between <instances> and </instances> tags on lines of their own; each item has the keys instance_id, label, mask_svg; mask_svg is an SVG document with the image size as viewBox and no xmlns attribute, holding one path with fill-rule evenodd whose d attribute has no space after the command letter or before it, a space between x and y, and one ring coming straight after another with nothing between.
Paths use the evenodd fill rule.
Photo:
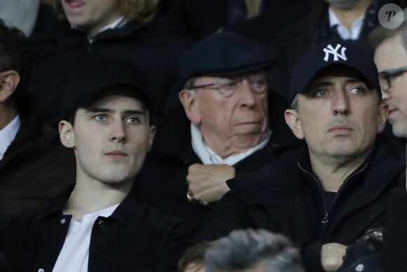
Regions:
<instances>
[{"instance_id":1,"label":"man in dark jacket and navy cap with NY logo","mask_svg":"<svg viewBox=\"0 0 407 272\"><path fill-rule=\"evenodd\" d=\"M404 161L378 136L388 107L366 52L342 41L315 46L298 61L290 91L286 122L307 148L229 181L195 240L267 228L302 246L307 271L335 271L347 245L385 224Z\"/></svg>"}]
</instances>

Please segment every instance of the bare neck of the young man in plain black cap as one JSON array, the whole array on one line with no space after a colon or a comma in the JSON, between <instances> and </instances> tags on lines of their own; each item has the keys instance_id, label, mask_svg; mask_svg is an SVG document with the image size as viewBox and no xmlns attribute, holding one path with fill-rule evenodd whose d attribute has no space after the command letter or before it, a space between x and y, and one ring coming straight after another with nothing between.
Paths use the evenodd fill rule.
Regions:
<instances>
[{"instance_id":1,"label":"bare neck of the young man in plain black cap","mask_svg":"<svg viewBox=\"0 0 407 272\"><path fill-rule=\"evenodd\" d=\"M76 181L74 190L69 195L65 213L72 214L74 219L81 221L85 214L119 204L130 193L132 185L131 181L119 184Z\"/></svg>"}]
</instances>

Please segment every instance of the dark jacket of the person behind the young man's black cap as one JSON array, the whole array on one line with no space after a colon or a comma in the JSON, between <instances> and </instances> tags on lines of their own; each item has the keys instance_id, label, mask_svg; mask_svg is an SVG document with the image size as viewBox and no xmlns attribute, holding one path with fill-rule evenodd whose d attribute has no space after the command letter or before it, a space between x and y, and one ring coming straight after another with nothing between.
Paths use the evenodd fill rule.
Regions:
<instances>
[{"instance_id":1,"label":"dark jacket of the person behind the young man's black cap","mask_svg":"<svg viewBox=\"0 0 407 272\"><path fill-rule=\"evenodd\" d=\"M39 53L44 56L34 70L29 90L44 98L51 108L51 121L56 122L64 88L73 72L87 60L100 57L127 60L143 72L154 93L152 104L160 115L176 76L178 56L191 42L164 16L145 25L128 22L121 28L100 32L92 39L66 25L65 31L48 44L53 46L48 46L51 49L46 48L46 53Z\"/></svg>"}]
</instances>

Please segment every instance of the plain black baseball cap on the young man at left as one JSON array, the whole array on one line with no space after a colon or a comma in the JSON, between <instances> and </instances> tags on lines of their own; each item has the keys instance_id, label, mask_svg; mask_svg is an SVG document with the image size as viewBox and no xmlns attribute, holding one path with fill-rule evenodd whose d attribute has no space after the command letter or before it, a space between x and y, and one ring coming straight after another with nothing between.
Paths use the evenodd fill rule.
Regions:
<instances>
[{"instance_id":1,"label":"plain black baseball cap on the young man at left","mask_svg":"<svg viewBox=\"0 0 407 272\"><path fill-rule=\"evenodd\" d=\"M133 65L119 58L98 58L81 65L65 89L62 118L66 119L78 108L86 107L103 91L113 86L126 86L134 91L152 117L151 91L147 79Z\"/></svg>"}]
</instances>

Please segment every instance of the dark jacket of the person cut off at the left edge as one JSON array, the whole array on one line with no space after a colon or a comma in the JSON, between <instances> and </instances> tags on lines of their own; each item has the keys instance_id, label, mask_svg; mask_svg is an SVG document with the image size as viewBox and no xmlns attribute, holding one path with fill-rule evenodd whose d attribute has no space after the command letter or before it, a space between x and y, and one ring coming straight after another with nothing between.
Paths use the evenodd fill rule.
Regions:
<instances>
[{"instance_id":1,"label":"dark jacket of the person cut off at the left edge","mask_svg":"<svg viewBox=\"0 0 407 272\"><path fill-rule=\"evenodd\" d=\"M42 108L29 97L19 112L20 129L0 160L0 214L46 207L76 176L74 152L46 124Z\"/></svg>"}]
</instances>

